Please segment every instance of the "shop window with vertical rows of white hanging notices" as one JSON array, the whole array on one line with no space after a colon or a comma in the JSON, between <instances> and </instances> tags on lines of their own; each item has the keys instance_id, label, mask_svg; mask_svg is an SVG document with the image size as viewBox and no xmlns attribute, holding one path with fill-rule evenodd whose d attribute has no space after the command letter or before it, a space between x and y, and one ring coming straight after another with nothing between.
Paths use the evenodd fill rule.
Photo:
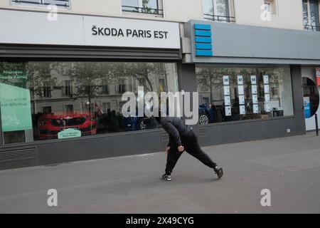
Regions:
<instances>
[{"instance_id":1,"label":"shop window with vertical rows of white hanging notices","mask_svg":"<svg viewBox=\"0 0 320 228\"><path fill-rule=\"evenodd\" d=\"M289 67L197 67L199 124L294 115Z\"/></svg>"}]
</instances>

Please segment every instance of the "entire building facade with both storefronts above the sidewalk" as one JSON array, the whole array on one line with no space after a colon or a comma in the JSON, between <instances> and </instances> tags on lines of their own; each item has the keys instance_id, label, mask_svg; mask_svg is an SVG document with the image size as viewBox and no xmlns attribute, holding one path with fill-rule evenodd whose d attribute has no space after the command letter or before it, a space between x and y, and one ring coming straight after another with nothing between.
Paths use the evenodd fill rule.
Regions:
<instances>
[{"instance_id":1,"label":"entire building facade with both storefronts above the sidewalk","mask_svg":"<svg viewBox=\"0 0 320 228\"><path fill-rule=\"evenodd\" d=\"M48 2L58 4L57 21L48 17ZM138 86L144 92L198 90L199 106L193 108L203 125L194 129L202 145L314 130L314 116L305 120L302 106L304 95L317 100L319 89L308 85L302 93L302 78L315 81L320 66L319 1L165 3L0 1L6 28L0 30L0 83L15 86L14 92L0 91L1 99L6 96L0 169L162 150L167 137L152 120L120 115L122 93L137 94ZM18 109L26 103L10 101L28 90L31 118ZM310 107L319 113L315 103ZM39 121L43 113L60 115ZM67 126L68 140L38 142L39 124L64 123L75 113L91 113L78 118L92 121L96 134L79 138L77 130L87 123L70 121L75 124Z\"/></svg>"}]
</instances>

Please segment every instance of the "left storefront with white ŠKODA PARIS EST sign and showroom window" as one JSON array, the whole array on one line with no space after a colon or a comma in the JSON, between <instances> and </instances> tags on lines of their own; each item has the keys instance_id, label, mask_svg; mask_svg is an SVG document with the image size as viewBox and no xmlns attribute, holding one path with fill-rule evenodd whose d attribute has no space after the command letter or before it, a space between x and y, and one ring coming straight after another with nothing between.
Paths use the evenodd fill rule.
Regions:
<instances>
[{"instance_id":1,"label":"left storefront with white \u0160KODA PARIS EST sign and showroom window","mask_svg":"<svg viewBox=\"0 0 320 228\"><path fill-rule=\"evenodd\" d=\"M122 94L178 91L178 23L10 10L0 21L0 169L163 149L154 121L122 116Z\"/></svg>"}]
</instances>

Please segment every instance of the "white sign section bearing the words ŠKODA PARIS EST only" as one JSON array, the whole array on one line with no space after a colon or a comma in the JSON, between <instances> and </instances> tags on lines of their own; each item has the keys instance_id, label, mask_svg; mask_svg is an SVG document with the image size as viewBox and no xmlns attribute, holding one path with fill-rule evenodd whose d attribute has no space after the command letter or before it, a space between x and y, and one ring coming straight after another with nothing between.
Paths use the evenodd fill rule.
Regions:
<instances>
[{"instance_id":1,"label":"white sign section bearing the words \u0160KODA PARIS EST only","mask_svg":"<svg viewBox=\"0 0 320 228\"><path fill-rule=\"evenodd\" d=\"M84 28L87 45L180 48L177 23L85 16Z\"/></svg>"}]
</instances>

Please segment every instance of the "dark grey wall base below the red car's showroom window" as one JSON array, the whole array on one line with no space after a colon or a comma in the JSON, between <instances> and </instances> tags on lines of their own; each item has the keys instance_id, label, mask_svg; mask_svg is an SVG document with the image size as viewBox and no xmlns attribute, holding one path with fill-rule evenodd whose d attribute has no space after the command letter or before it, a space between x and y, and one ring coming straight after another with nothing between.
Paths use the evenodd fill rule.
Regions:
<instances>
[{"instance_id":1,"label":"dark grey wall base below the red car's showroom window","mask_svg":"<svg viewBox=\"0 0 320 228\"><path fill-rule=\"evenodd\" d=\"M23 160L0 161L0 170L34 165L49 165L61 162L91 160L102 157L117 157L159 152L166 147L161 140L164 131L149 130L136 133L119 133L100 135L99 137L80 138L78 140L48 140L48 142L28 144L37 150L37 157ZM147 140L146 140L147 139ZM147 143L146 143L147 142ZM21 145L20 148L26 146ZM4 150L14 150L18 146L0 147L0 155Z\"/></svg>"}]
</instances>

